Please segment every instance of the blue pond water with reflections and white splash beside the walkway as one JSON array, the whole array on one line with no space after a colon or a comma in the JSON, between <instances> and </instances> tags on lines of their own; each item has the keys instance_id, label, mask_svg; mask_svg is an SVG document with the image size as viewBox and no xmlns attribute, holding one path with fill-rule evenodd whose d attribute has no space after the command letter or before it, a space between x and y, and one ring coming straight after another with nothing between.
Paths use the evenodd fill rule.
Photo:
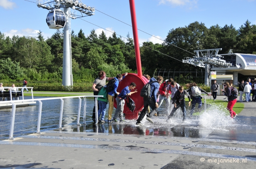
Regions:
<instances>
[{"instance_id":1,"label":"blue pond water with reflections and white splash beside the walkway","mask_svg":"<svg viewBox=\"0 0 256 169\"><path fill-rule=\"evenodd\" d=\"M39 98L39 97L34 97ZM78 98L67 98L64 100L62 131L75 132L98 132L98 133L116 133L116 134L135 134L135 135L156 135L173 137L196 137L196 138L216 138L221 136L231 140L250 140L253 138L242 136L240 133L254 132L256 127L255 118L238 116L235 122L230 120L226 109L218 106L207 105L207 110L200 116L194 116L182 122L182 112L177 110L174 117L166 122L164 115L164 103L159 109L161 116L154 116L154 124L143 120L143 126L135 125L135 120L126 120L125 123L102 123L94 125L92 122L92 109L94 105L93 98L86 98L86 124L83 124L84 100L80 114L81 126L77 126ZM41 132L44 130L59 130L60 117L60 99L42 101L42 121ZM203 105L204 106L204 105ZM202 108L204 108L202 106ZM191 108L191 107L190 107ZM107 107L108 111L108 107ZM115 109L114 109L115 111ZM113 112L114 112L113 111ZM190 109L187 109L189 112ZM195 111L196 112L196 111ZM0 109L0 140L7 139L10 132L10 120L12 109ZM189 115L189 113L187 113ZM107 121L108 112L106 112ZM14 137L36 132L38 118L38 102L32 106L17 107Z\"/></svg>"}]
</instances>

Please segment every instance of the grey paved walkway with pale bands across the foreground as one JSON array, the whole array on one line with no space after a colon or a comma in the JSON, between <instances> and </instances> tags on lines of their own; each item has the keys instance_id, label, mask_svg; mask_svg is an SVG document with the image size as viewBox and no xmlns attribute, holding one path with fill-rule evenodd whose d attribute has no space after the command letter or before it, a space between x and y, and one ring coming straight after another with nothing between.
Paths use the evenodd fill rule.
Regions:
<instances>
[{"instance_id":1,"label":"grey paved walkway with pale bands across the foreground","mask_svg":"<svg viewBox=\"0 0 256 169\"><path fill-rule=\"evenodd\" d=\"M238 117L255 124L255 102L243 103ZM221 132L191 138L45 131L0 141L0 168L254 169L256 142L229 140ZM256 140L255 132L237 134Z\"/></svg>"}]
</instances>

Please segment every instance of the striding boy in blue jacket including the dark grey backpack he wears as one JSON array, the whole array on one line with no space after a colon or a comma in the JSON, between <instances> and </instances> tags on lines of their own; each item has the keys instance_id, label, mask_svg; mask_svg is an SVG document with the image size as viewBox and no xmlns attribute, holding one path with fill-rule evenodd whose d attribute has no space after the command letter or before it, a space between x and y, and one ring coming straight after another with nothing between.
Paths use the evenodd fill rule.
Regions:
<instances>
[{"instance_id":1,"label":"striding boy in blue jacket including the dark grey backpack he wears","mask_svg":"<svg viewBox=\"0 0 256 169\"><path fill-rule=\"evenodd\" d=\"M146 115L146 111L148 109L148 106L152 109L150 113L148 113L146 120L148 120L150 123L154 123L151 120L151 117L157 113L158 103L157 103L157 97L156 94L158 92L158 89L160 87L159 83L161 84L163 81L162 76L157 76L157 78L151 78L149 82L141 89L140 96L143 97L144 100L144 108L140 112L139 118L136 120L136 125L142 125L141 121Z\"/></svg>"}]
</instances>

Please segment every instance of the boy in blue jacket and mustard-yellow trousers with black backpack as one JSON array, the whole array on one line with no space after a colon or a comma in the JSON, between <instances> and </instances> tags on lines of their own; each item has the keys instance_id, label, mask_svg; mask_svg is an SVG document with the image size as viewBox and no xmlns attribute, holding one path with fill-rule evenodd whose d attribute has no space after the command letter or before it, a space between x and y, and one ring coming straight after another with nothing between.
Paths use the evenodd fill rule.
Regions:
<instances>
[{"instance_id":1,"label":"boy in blue jacket and mustard-yellow trousers with black backpack","mask_svg":"<svg viewBox=\"0 0 256 169\"><path fill-rule=\"evenodd\" d=\"M114 96L116 97L119 95L117 92L117 88L119 85L119 81L122 81L128 73L125 73L124 76L122 74L117 74L116 77L110 80L107 84L107 91L108 91L108 123L111 123L112 112L114 109Z\"/></svg>"}]
</instances>

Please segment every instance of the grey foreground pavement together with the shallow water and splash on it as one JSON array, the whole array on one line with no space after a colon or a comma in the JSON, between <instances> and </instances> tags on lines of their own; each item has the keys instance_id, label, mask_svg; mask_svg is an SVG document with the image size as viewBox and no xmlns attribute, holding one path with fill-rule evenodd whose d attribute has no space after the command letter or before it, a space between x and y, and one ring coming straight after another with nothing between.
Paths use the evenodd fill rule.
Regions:
<instances>
[{"instance_id":1,"label":"grey foreground pavement together with the shallow water and splash on it","mask_svg":"<svg viewBox=\"0 0 256 169\"><path fill-rule=\"evenodd\" d=\"M243 103L234 121L210 106L184 122L178 111L143 126L86 122L0 141L0 168L255 168L256 104Z\"/></svg>"}]
</instances>

